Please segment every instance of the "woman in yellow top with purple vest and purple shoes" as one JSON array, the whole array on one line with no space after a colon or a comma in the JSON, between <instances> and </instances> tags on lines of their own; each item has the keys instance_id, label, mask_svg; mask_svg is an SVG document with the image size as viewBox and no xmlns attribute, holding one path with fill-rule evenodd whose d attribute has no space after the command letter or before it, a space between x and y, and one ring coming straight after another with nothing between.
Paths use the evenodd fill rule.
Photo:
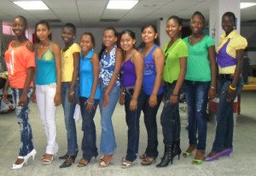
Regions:
<instances>
[{"instance_id":1,"label":"woman in yellow top with purple vest and purple shoes","mask_svg":"<svg viewBox=\"0 0 256 176\"><path fill-rule=\"evenodd\" d=\"M247 47L247 40L236 33L236 16L232 12L226 12L222 16L222 28L224 34L216 49L219 97L217 128L207 162L217 160L220 156L230 156L233 152L233 102L243 86L242 55Z\"/></svg>"}]
</instances>

